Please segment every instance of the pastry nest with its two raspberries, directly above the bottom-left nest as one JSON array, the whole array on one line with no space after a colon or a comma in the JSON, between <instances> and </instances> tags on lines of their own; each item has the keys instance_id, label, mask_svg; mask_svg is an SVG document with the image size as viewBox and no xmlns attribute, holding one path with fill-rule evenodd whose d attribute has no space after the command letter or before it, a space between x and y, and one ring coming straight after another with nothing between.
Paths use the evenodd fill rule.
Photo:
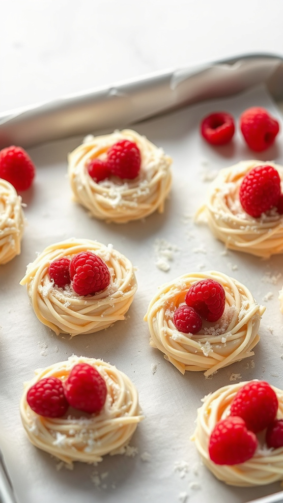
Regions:
<instances>
[{"instance_id":1,"label":"pastry nest with its two raspberries, directly above the bottom-left nest","mask_svg":"<svg viewBox=\"0 0 283 503\"><path fill-rule=\"evenodd\" d=\"M131 262L111 244L89 239L48 246L20 284L27 286L38 319L72 337L123 320L137 288Z\"/></svg>"}]
</instances>

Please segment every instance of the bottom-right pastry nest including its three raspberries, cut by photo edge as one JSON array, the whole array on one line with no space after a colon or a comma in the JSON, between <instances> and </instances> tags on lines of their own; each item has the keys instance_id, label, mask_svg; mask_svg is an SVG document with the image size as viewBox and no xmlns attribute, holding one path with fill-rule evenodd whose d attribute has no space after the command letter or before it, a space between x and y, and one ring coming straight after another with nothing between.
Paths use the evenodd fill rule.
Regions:
<instances>
[{"instance_id":1,"label":"bottom-right pastry nest including its three raspberries, cut by photo edge","mask_svg":"<svg viewBox=\"0 0 283 503\"><path fill-rule=\"evenodd\" d=\"M224 386L203 398L191 438L204 465L235 486L283 479L283 391L265 381Z\"/></svg>"}]
</instances>

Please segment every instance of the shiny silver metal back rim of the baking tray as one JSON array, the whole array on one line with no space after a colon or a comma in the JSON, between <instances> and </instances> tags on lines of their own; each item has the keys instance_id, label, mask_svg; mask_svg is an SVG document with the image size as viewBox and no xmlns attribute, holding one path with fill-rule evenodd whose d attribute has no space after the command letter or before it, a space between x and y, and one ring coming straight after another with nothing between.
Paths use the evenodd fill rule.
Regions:
<instances>
[{"instance_id":1,"label":"shiny silver metal back rim of the baking tray","mask_svg":"<svg viewBox=\"0 0 283 503\"><path fill-rule=\"evenodd\" d=\"M129 127L262 82L275 100L283 99L283 56L244 54L150 74L0 114L0 148Z\"/></svg>"}]
</instances>

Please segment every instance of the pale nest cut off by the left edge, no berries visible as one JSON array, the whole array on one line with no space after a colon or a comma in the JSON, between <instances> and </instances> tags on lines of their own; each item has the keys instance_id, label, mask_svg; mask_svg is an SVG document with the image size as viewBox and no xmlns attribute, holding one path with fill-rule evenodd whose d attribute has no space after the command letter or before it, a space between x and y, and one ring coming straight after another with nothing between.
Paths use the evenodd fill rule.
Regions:
<instances>
[{"instance_id":1,"label":"pale nest cut off by the left edge, no berries visible","mask_svg":"<svg viewBox=\"0 0 283 503\"><path fill-rule=\"evenodd\" d=\"M20 255L24 226L22 198L13 185L0 178L0 264Z\"/></svg>"}]
</instances>

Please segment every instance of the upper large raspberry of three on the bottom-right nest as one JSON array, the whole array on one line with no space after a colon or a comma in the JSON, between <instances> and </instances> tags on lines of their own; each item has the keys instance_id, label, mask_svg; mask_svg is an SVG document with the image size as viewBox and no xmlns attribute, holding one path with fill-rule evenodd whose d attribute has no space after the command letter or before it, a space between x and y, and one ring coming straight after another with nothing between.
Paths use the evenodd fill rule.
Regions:
<instances>
[{"instance_id":1,"label":"upper large raspberry of three on the bottom-right nest","mask_svg":"<svg viewBox=\"0 0 283 503\"><path fill-rule=\"evenodd\" d=\"M242 417L248 430L257 433L274 421L277 409L277 396L271 386L265 381L250 381L235 395L230 413Z\"/></svg>"}]
</instances>

